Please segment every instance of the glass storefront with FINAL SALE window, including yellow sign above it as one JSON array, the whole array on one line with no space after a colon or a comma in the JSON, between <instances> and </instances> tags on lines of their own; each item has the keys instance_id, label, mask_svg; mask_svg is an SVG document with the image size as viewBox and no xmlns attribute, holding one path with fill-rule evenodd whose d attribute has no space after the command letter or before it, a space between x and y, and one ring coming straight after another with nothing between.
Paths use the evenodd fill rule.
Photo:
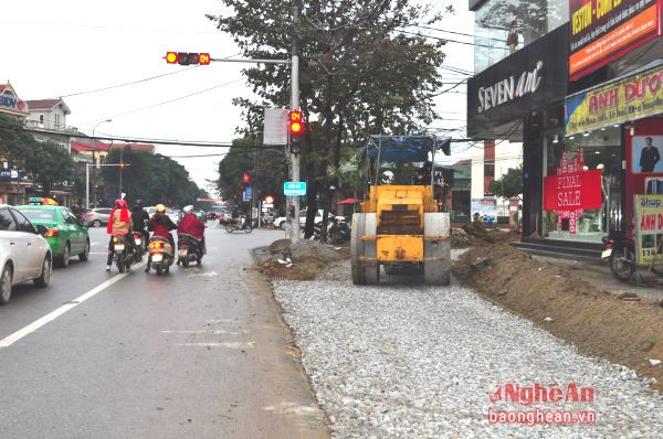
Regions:
<instances>
[{"instance_id":1,"label":"glass storefront with FINAL SALE window, including yellow sign above it","mask_svg":"<svg viewBox=\"0 0 663 439\"><path fill-rule=\"evenodd\" d=\"M615 231L633 237L634 195L663 193L663 62L573 94L565 105L566 136L547 157L556 164L566 154L581 169L571 181L548 167L545 196L559 200L544 208L545 232L579 242L600 242ZM554 186L552 180L568 184ZM581 196L562 206L566 191ZM565 210L575 215L561 220Z\"/></svg>"}]
</instances>

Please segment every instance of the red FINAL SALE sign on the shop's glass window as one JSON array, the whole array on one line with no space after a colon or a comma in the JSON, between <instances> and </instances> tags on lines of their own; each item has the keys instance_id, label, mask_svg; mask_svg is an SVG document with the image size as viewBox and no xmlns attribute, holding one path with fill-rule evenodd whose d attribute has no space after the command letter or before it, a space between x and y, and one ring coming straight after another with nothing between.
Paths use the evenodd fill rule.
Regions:
<instances>
[{"instance_id":1,"label":"red FINAL SALE sign on the shop's glass window","mask_svg":"<svg viewBox=\"0 0 663 439\"><path fill-rule=\"evenodd\" d=\"M557 175L544 178L544 208L557 214L557 227L561 221L569 221L569 233L577 231L578 220L585 215L585 210L601 208L601 171L585 170L582 147L576 157L569 157L564 151L557 167Z\"/></svg>"}]
</instances>

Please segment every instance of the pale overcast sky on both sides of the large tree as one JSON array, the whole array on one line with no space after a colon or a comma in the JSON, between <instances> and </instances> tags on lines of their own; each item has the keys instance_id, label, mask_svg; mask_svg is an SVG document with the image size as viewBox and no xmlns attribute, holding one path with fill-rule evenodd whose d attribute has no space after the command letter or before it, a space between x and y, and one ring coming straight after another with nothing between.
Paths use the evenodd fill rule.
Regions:
<instances>
[{"instance_id":1,"label":"pale overcast sky on both sides of the large tree","mask_svg":"<svg viewBox=\"0 0 663 439\"><path fill-rule=\"evenodd\" d=\"M444 1L434 1L435 9ZM473 33L472 13L466 0L451 0L456 8L435 28ZM3 62L0 82L9 79L20 98L42 99L64 96L72 110L67 125L86 133L99 121L95 133L135 138L230 142L242 125L234 97L251 97L235 63L212 63L196 68L168 65L167 51L209 52L213 57L233 56L239 50L231 39L214 29L206 13L218 14L217 0L115 0L99 2L32 0L3 2ZM420 30L421 31L421 30ZM472 42L471 38L436 31L424 34ZM446 64L473 71L471 45L448 43ZM99 93L67 96L148 77L175 73L140 84ZM445 83L461 76L443 73ZM215 88L214 88L215 87ZM445 85L444 87L448 87ZM213 89L211 89L213 88ZM157 104L207 90L169 104ZM465 92L465 86L454 89ZM456 128L466 125L465 94L450 93L436 98L445 120L431 127ZM151 107L147 108L146 107ZM460 120L456 120L460 119ZM463 133L455 132L454 137ZM217 148L160 146L165 156L223 152ZM459 160L462 157L452 157ZM221 158L177 158L200 186L217 178Z\"/></svg>"}]
</instances>

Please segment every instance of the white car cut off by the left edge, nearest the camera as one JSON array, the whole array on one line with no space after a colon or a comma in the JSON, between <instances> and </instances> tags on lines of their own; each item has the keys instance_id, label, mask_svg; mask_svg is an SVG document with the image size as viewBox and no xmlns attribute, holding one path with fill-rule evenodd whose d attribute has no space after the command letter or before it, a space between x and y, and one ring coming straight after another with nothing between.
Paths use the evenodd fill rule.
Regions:
<instances>
[{"instance_id":1,"label":"white car cut off by the left edge, nearest the camera","mask_svg":"<svg viewBox=\"0 0 663 439\"><path fill-rule=\"evenodd\" d=\"M0 204L0 304L11 298L14 285L32 280L48 287L53 257L41 233L21 212Z\"/></svg>"}]
</instances>

